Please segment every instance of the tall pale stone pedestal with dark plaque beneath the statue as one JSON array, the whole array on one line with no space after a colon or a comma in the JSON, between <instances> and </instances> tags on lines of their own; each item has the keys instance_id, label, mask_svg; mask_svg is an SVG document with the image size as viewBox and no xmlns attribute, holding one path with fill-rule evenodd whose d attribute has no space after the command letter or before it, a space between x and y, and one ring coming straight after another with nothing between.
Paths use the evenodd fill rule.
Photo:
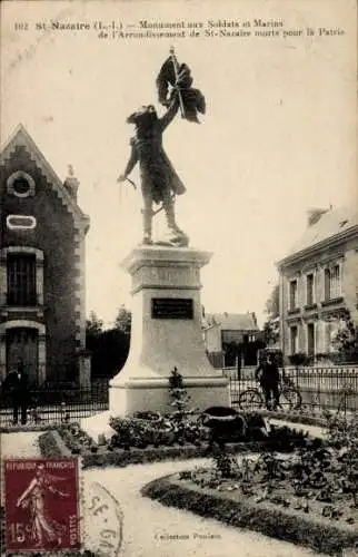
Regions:
<instances>
[{"instance_id":1,"label":"tall pale stone pedestal with dark plaque beneath the statue","mask_svg":"<svg viewBox=\"0 0 358 557\"><path fill-rule=\"evenodd\" d=\"M183 375L191 405L229 403L228 380L210 364L201 332L200 268L210 253L139 246L123 262L132 277L132 326L125 368L110 382L111 416L170 411L169 377Z\"/></svg>"}]
</instances>

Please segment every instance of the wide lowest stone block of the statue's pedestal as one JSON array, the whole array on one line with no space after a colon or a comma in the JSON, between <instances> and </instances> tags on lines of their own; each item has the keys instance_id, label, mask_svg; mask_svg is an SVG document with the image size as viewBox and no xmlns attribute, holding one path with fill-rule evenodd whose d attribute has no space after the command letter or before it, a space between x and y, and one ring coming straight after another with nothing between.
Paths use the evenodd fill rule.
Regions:
<instances>
[{"instance_id":1,"label":"wide lowest stone block of the statue's pedestal","mask_svg":"<svg viewBox=\"0 0 358 557\"><path fill-rule=\"evenodd\" d=\"M229 403L228 381L226 378L205 377L185 378L188 410L206 410L212 405ZM111 416L127 416L136 411L170 413L175 410L169 393L169 377L158 379L132 379L122 384L111 384L109 407Z\"/></svg>"}]
</instances>

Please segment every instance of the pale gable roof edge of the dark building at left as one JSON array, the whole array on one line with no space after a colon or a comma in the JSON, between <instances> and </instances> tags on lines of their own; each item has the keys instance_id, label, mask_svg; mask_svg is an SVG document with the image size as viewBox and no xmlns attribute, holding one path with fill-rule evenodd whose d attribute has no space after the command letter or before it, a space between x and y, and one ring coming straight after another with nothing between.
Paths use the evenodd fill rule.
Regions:
<instances>
[{"instance_id":1,"label":"pale gable roof edge of the dark building at left","mask_svg":"<svg viewBox=\"0 0 358 557\"><path fill-rule=\"evenodd\" d=\"M46 176L49 185L56 190L57 195L63 203L63 205L68 208L70 213L72 213L74 221L82 226L84 226L84 231L87 232L89 227L89 216L86 215L76 203L73 197L69 194L63 183L59 178L59 176L54 173L50 164L43 157L41 150L33 141L32 137L29 135L27 129L20 124L18 128L14 130L12 136L9 138L8 143L3 146L0 152L0 164L6 164L7 159L9 159L16 147L22 146L31 155L31 158L36 162L37 166L42 170Z\"/></svg>"}]
</instances>

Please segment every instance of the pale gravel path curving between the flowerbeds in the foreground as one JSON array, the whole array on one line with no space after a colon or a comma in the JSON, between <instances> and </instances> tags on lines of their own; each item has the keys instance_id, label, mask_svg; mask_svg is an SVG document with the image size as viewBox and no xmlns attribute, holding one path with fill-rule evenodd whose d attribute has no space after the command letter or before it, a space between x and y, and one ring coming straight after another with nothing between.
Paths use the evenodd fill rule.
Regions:
<instances>
[{"instance_id":1,"label":"pale gravel path curving between the flowerbeds in the foreground","mask_svg":"<svg viewBox=\"0 0 358 557\"><path fill-rule=\"evenodd\" d=\"M2 434L2 458L38 457L38 437L39 433ZM84 472L86 491L92 482L101 483L121 506L125 517L121 557L322 557L292 544L163 507L139 492L155 478L206 462L205 459L160 462Z\"/></svg>"}]
</instances>

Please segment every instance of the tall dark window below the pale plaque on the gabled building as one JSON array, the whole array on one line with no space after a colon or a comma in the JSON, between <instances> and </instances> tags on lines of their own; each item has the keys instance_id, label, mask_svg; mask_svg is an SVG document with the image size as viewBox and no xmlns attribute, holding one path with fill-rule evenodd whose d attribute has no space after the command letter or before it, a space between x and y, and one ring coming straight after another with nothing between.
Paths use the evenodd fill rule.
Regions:
<instances>
[{"instance_id":1,"label":"tall dark window below the pale plaque on the gabled building","mask_svg":"<svg viewBox=\"0 0 358 557\"><path fill-rule=\"evenodd\" d=\"M8 254L8 305L36 305L36 255Z\"/></svg>"}]
</instances>

